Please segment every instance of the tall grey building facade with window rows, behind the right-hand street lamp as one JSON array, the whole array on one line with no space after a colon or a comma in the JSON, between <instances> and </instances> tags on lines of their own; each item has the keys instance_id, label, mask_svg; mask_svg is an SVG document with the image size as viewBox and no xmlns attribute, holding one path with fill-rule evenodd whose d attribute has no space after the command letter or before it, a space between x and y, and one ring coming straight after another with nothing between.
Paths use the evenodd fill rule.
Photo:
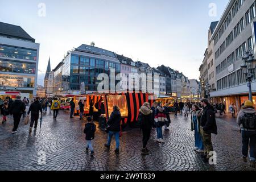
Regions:
<instances>
[{"instance_id":1,"label":"tall grey building facade with window rows, behind the right-hand street lamp","mask_svg":"<svg viewBox=\"0 0 256 182\"><path fill-rule=\"evenodd\" d=\"M246 51L251 51L255 55L255 34L252 28L256 20L255 16L254 0L229 1L210 39L214 41L217 84L217 90L211 92L210 96L217 102L224 102L226 110L232 102L239 109L243 101L249 99L241 65L243 64L242 56ZM255 77L251 88L255 106Z\"/></svg>"}]
</instances>

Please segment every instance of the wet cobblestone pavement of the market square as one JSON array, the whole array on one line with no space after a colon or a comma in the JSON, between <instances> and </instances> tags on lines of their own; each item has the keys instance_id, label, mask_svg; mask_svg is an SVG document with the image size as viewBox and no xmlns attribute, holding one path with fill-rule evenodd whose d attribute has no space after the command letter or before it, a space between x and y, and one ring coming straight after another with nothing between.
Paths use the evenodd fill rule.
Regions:
<instances>
[{"instance_id":1,"label":"wet cobblestone pavement of the market square","mask_svg":"<svg viewBox=\"0 0 256 182\"><path fill-rule=\"evenodd\" d=\"M85 152L85 121L70 119L67 111L60 111L56 121L46 114L42 129L31 134L23 121L18 133L11 134L9 118L5 125L0 124L0 170L255 170L241 160L241 135L232 119L217 119L219 134L213 135L217 165L210 166L193 151L190 119L171 118L170 131L163 131L166 144L156 143L156 131L152 131L148 156L141 155L139 129L123 132L120 154L115 155L114 139L110 151L106 150L107 135L97 128L94 158ZM39 151L46 152L45 165L38 163Z\"/></svg>"}]
</instances>

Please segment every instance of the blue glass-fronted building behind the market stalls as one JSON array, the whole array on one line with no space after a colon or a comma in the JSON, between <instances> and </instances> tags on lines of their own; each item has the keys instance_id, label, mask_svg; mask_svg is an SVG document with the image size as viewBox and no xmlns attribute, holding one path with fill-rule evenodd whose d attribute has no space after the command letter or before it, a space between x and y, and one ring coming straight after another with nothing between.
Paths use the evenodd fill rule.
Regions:
<instances>
[{"instance_id":1,"label":"blue glass-fronted building behind the market stalls","mask_svg":"<svg viewBox=\"0 0 256 182\"><path fill-rule=\"evenodd\" d=\"M97 92L98 84L102 81L98 79L98 75L106 73L110 77L110 69L115 70L115 75L120 73L120 62L114 52L82 44L64 57L61 84L60 81L55 81L55 91L61 90L61 94Z\"/></svg>"}]
</instances>

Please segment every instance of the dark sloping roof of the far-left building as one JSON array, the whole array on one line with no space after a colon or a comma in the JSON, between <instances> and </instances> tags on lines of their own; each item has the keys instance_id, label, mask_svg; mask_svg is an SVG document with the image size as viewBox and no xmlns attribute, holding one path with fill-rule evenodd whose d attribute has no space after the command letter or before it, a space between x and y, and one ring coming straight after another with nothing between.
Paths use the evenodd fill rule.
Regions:
<instances>
[{"instance_id":1,"label":"dark sloping roof of the far-left building","mask_svg":"<svg viewBox=\"0 0 256 182\"><path fill-rule=\"evenodd\" d=\"M22 27L13 24L0 22L0 35L6 36L7 38L16 38L35 42L35 39L28 35Z\"/></svg>"}]
</instances>

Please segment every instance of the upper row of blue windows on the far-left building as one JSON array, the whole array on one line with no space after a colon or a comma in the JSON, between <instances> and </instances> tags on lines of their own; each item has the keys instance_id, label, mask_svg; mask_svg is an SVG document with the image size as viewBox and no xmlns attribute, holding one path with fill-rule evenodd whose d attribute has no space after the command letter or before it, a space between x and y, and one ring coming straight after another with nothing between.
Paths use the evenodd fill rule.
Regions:
<instances>
[{"instance_id":1,"label":"upper row of blue windows on the far-left building","mask_svg":"<svg viewBox=\"0 0 256 182\"><path fill-rule=\"evenodd\" d=\"M36 61L37 56L37 51L35 49L19 48L0 44L0 57L12 57L16 59Z\"/></svg>"}]
</instances>

